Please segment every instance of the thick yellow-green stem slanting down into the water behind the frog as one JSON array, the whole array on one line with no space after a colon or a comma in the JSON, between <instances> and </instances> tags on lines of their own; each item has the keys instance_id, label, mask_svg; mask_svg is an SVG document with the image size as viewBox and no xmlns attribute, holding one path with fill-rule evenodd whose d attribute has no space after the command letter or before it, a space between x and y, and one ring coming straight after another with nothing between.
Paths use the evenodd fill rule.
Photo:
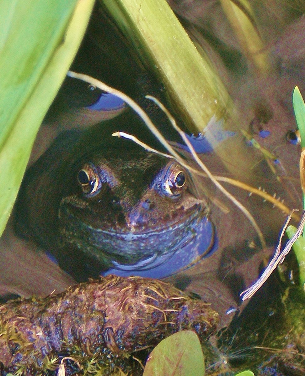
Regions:
<instances>
[{"instance_id":1,"label":"thick yellow-green stem slanting down into the water behind the frog","mask_svg":"<svg viewBox=\"0 0 305 376\"><path fill-rule=\"evenodd\" d=\"M207 56L195 48L166 0L100 0L162 80L190 130L203 132L215 115L229 112L230 99Z\"/></svg>"}]
</instances>

